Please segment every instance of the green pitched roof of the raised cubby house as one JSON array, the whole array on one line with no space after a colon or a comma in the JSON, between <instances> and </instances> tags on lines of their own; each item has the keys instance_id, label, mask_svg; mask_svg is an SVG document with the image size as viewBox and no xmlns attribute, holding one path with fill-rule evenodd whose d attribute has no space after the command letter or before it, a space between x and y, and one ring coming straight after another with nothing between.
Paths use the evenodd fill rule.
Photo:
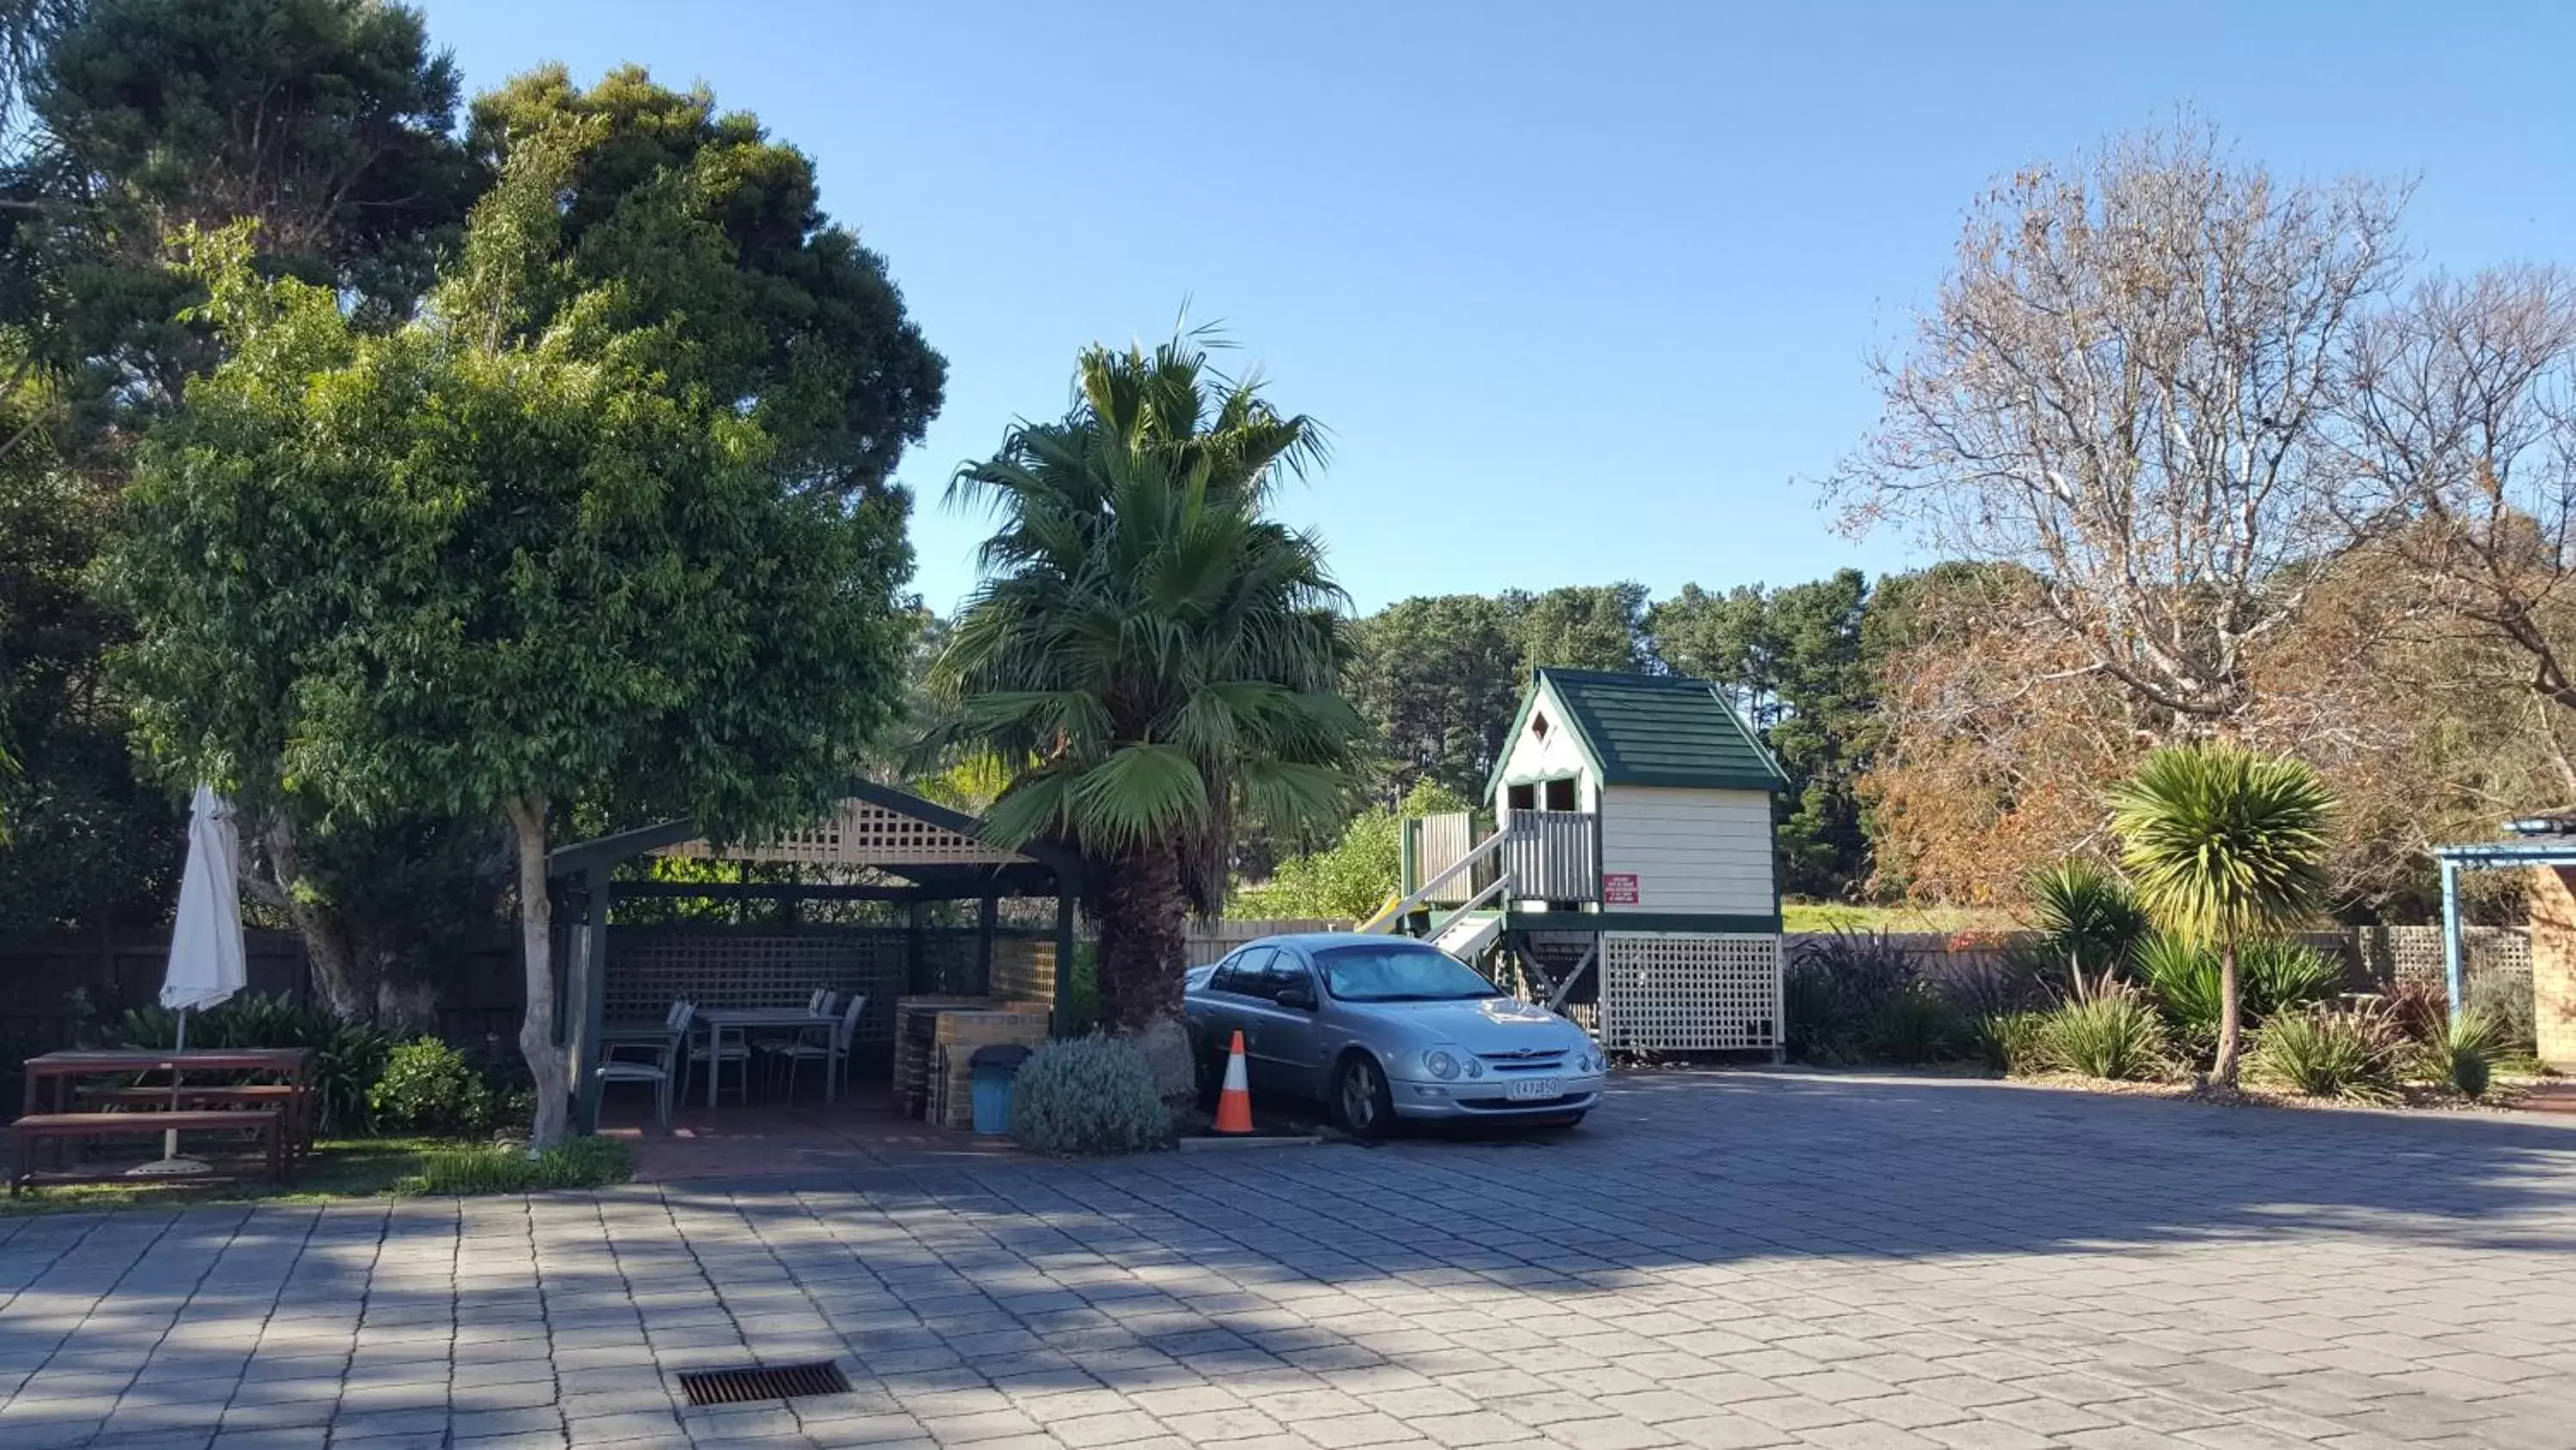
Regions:
<instances>
[{"instance_id":1,"label":"green pitched roof of the raised cubby house","mask_svg":"<svg viewBox=\"0 0 2576 1450\"><path fill-rule=\"evenodd\" d=\"M1788 775L1708 680L1538 670L1512 739L1520 739L1540 685L1564 701L1571 719L1561 724L1574 726L1605 786L1788 791Z\"/></svg>"}]
</instances>

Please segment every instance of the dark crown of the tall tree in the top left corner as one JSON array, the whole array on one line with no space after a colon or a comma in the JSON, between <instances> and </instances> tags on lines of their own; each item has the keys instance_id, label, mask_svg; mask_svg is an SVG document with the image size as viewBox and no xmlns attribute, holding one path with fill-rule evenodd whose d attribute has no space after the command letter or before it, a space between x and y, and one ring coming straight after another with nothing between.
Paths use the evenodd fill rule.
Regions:
<instances>
[{"instance_id":1,"label":"dark crown of the tall tree in the top left corner","mask_svg":"<svg viewBox=\"0 0 2576 1450\"><path fill-rule=\"evenodd\" d=\"M0 175L0 304L82 433L131 433L219 355L162 258L180 227L255 216L263 270L404 314L477 188L456 100L420 15L379 0L90 0L49 26L36 139Z\"/></svg>"}]
</instances>

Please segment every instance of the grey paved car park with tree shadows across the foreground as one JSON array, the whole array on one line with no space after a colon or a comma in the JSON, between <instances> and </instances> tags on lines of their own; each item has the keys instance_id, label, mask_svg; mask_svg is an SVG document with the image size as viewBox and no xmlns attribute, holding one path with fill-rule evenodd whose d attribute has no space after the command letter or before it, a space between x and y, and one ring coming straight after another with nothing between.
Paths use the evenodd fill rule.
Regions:
<instances>
[{"instance_id":1,"label":"grey paved car park with tree shadows across the foreground","mask_svg":"<svg viewBox=\"0 0 2576 1450\"><path fill-rule=\"evenodd\" d=\"M853 1393L683 1409L837 1360ZM2576 1445L2576 1128L1628 1077L1533 1141L0 1221L0 1445Z\"/></svg>"}]
</instances>

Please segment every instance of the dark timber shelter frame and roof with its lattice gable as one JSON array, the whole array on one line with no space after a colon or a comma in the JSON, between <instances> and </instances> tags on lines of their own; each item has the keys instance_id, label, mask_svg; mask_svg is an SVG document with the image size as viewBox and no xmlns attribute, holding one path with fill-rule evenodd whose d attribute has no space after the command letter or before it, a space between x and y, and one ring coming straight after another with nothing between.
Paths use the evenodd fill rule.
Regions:
<instances>
[{"instance_id":1,"label":"dark timber shelter frame and roof with its lattice gable","mask_svg":"<svg viewBox=\"0 0 2576 1450\"><path fill-rule=\"evenodd\" d=\"M644 855L817 865L866 873L868 881L616 881L621 863ZM621 899L891 901L909 909L914 968L925 909L935 901L976 901L976 950L989 976L1002 899L1054 896L1054 1020L1059 1033L1066 1025L1074 901L1082 891L1079 858L1048 842L997 847L984 840L984 822L891 786L850 783L827 819L760 842L714 847L696 822L662 822L574 842L546 855L546 878L564 907L556 919L569 925L564 1038L585 1131L598 1125L600 1084L592 1069L608 999L608 917Z\"/></svg>"}]
</instances>

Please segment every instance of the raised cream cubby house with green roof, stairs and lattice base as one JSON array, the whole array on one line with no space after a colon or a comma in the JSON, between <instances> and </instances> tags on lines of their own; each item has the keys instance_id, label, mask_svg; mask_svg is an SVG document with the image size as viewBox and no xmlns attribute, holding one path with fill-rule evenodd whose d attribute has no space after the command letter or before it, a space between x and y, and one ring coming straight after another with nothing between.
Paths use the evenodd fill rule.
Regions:
<instances>
[{"instance_id":1,"label":"raised cream cubby house with green roof, stairs and lattice base","mask_svg":"<svg viewBox=\"0 0 2576 1450\"><path fill-rule=\"evenodd\" d=\"M1623 1051L1780 1048L1780 765L1705 683L1538 670L1476 811L1404 822L1406 930Z\"/></svg>"}]
</instances>

